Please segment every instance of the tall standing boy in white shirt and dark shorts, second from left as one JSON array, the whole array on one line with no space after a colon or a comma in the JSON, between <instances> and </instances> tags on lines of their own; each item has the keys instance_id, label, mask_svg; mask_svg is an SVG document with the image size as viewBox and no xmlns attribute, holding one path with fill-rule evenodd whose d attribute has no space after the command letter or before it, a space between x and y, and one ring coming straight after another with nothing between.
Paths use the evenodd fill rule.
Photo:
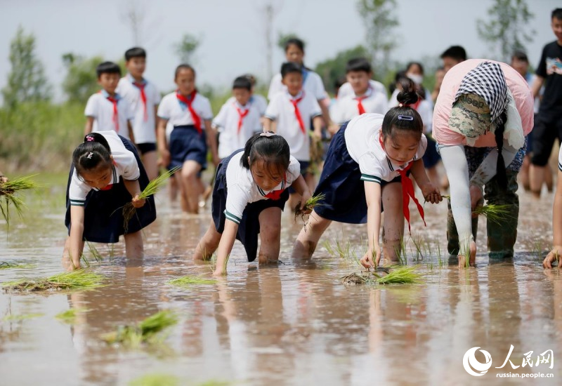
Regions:
<instances>
[{"instance_id":1,"label":"tall standing boy in white shirt and dark shorts, second from left","mask_svg":"<svg viewBox=\"0 0 562 386\"><path fill-rule=\"evenodd\" d=\"M149 180L154 180L158 175L156 110L160 94L155 84L143 77L146 69L146 51L143 48L134 47L125 51L125 67L129 73L119 81L117 93L133 107L136 146Z\"/></svg>"}]
</instances>

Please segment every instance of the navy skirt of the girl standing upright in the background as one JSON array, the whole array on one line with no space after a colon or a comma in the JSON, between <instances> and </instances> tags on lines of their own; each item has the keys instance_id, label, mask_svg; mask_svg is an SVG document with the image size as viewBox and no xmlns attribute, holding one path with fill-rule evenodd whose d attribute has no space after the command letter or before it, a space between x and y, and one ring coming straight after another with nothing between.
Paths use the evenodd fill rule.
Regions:
<instances>
[{"instance_id":1,"label":"navy skirt of the girl standing upright in the background","mask_svg":"<svg viewBox=\"0 0 562 386\"><path fill-rule=\"evenodd\" d=\"M201 170L207 168L207 135L200 134L193 125L174 126L170 134L170 164L168 170L182 167L185 161L195 161Z\"/></svg>"}]
</instances>

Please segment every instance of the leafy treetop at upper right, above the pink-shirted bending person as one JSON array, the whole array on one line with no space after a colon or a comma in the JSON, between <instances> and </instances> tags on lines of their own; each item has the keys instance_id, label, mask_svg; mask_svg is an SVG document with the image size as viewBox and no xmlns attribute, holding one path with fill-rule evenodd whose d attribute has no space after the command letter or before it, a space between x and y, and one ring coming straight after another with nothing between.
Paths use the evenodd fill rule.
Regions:
<instances>
[{"instance_id":1,"label":"leafy treetop at upper right, above the pink-shirted bending person","mask_svg":"<svg viewBox=\"0 0 562 386\"><path fill-rule=\"evenodd\" d=\"M488 42L490 48L499 52L499 59L509 61L515 50L525 51L525 42L530 43L535 29L525 31L535 17L525 0L494 0L488 9L490 20L476 20L478 36Z\"/></svg>"}]
</instances>

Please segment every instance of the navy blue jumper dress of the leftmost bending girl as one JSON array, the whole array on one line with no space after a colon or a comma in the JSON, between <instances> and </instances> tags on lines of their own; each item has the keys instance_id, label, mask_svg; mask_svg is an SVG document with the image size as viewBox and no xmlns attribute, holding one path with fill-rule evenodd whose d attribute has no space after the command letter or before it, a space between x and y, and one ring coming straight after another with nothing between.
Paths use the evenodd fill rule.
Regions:
<instances>
[{"instance_id":1,"label":"navy blue jumper dress of the leftmost bending girl","mask_svg":"<svg viewBox=\"0 0 562 386\"><path fill-rule=\"evenodd\" d=\"M138 157L136 148L131 141L121 138L123 145L126 149L135 154L138 168L141 170L141 176L138 178L138 183L141 185L141 191L148 185L148 176L146 175L145 168L141 159ZM68 175L68 183L66 188L66 216L65 225L70 234L70 201L68 199L68 189L70 181L72 180L72 173L74 173L74 166L70 167ZM123 183L123 178L119 178L119 183L114 184L108 190L91 190L86 196L86 204L84 205L84 234L82 239L84 241L92 241L95 243L117 243L119 236L125 234L123 227L123 206L131 202L131 194L126 189ZM127 233L138 232L144 227L148 226L156 219L156 206L154 197L148 197L146 203L142 208L137 208L136 214L129 220L129 229Z\"/></svg>"}]
</instances>

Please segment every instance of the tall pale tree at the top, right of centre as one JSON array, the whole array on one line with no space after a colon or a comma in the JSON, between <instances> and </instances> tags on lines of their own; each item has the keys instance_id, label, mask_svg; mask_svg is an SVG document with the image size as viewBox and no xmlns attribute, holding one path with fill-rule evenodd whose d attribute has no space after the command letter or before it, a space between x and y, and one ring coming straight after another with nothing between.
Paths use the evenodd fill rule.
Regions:
<instances>
[{"instance_id":1,"label":"tall pale tree at the top, right of centre","mask_svg":"<svg viewBox=\"0 0 562 386\"><path fill-rule=\"evenodd\" d=\"M377 79L384 78L388 71L391 53L396 48L398 26L394 15L396 0L358 0L358 11L367 29L367 49L374 64Z\"/></svg>"}]
</instances>

